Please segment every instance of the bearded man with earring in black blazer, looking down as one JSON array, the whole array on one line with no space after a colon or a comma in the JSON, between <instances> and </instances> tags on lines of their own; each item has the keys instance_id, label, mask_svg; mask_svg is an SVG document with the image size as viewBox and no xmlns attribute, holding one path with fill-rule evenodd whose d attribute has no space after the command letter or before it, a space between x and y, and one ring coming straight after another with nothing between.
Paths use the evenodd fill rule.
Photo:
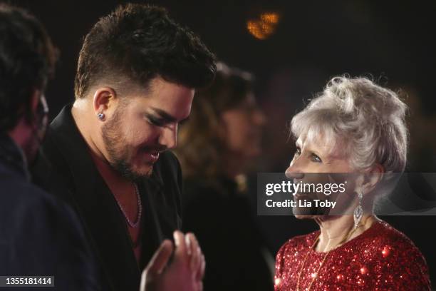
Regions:
<instances>
[{"instance_id":1,"label":"bearded man with earring in black blazer, looking down","mask_svg":"<svg viewBox=\"0 0 436 291\"><path fill-rule=\"evenodd\" d=\"M39 181L51 190L53 180L66 185L58 195L81 218L113 290L137 290L140 270L181 226L180 165L167 150L190 115L194 89L207 86L215 70L198 37L155 6L119 6L85 37L76 101L43 143L58 178ZM194 264L197 285L201 261Z\"/></svg>"}]
</instances>

